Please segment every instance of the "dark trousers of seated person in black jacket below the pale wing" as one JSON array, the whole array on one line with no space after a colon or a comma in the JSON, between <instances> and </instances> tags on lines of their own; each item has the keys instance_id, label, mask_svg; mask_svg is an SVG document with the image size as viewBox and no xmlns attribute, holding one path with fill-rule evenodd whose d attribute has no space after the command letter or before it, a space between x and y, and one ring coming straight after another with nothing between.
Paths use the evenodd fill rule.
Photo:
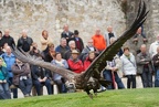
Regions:
<instances>
[{"instance_id":1,"label":"dark trousers of seated person in black jacket below the pale wing","mask_svg":"<svg viewBox=\"0 0 159 107\"><path fill-rule=\"evenodd\" d=\"M50 79L46 79L44 83L40 83L39 81L33 81L33 85L35 86L35 89L36 89L36 93L38 93L39 96L41 95L41 88L43 87L43 85L46 86L49 95L53 94L52 85L51 85Z\"/></svg>"}]
</instances>

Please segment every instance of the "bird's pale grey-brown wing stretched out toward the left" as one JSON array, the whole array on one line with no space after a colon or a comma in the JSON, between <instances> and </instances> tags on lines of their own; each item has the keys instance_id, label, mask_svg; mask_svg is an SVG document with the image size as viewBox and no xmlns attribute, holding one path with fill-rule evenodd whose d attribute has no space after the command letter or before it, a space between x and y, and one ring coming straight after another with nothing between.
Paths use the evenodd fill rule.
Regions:
<instances>
[{"instance_id":1,"label":"bird's pale grey-brown wing stretched out toward the left","mask_svg":"<svg viewBox=\"0 0 159 107\"><path fill-rule=\"evenodd\" d=\"M24 63L29 63L29 64L32 64L32 65L38 65L38 66L41 66L41 67L44 67L44 68L47 68L50 69L51 72L54 72L54 73L57 73L60 75L62 75L64 78L71 81L74 78L75 73L73 73L72 71L68 71L68 69L65 69L65 68L62 68L62 67L57 67L51 63L47 63L47 62L44 62L42 61L41 58L39 57L33 57L31 56L30 54L28 53L24 53L24 52L20 52L17 47L13 47L12 49L12 53L22 62Z\"/></svg>"}]
</instances>

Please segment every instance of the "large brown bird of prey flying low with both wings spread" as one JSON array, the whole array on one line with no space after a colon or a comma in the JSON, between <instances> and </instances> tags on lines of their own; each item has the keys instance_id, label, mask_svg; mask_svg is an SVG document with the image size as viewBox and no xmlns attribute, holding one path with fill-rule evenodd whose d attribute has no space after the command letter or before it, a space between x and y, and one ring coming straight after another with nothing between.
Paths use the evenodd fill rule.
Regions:
<instances>
[{"instance_id":1,"label":"large brown bird of prey flying low with both wings spread","mask_svg":"<svg viewBox=\"0 0 159 107\"><path fill-rule=\"evenodd\" d=\"M95 95L97 89L103 86L108 86L110 82L104 79L100 76L100 72L106 66L106 61L112 61L123 44L136 34L136 31L147 19L147 7L144 0L140 0L137 17L130 28L128 28L113 44L110 44L106 50L104 50L91 64L91 66L82 74L73 73L72 71L57 67L51 63L33 57L28 53L19 51L17 47L12 49L12 53L22 62L32 65L38 65L50 69L51 72L62 75L66 82L67 87L74 87L76 89L84 89L88 96L92 98L93 94L89 93L91 89L94 90Z\"/></svg>"}]
</instances>

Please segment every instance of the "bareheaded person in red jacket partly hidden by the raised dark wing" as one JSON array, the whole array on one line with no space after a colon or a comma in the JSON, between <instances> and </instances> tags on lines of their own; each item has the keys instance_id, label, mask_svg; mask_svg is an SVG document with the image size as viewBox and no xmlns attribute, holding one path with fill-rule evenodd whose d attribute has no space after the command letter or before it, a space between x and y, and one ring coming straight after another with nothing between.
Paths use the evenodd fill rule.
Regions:
<instances>
[{"instance_id":1,"label":"bareheaded person in red jacket partly hidden by the raised dark wing","mask_svg":"<svg viewBox=\"0 0 159 107\"><path fill-rule=\"evenodd\" d=\"M95 60L96 54L94 51L89 51L88 56L86 57L86 60L84 61L84 71L86 71L91 63Z\"/></svg>"}]
</instances>

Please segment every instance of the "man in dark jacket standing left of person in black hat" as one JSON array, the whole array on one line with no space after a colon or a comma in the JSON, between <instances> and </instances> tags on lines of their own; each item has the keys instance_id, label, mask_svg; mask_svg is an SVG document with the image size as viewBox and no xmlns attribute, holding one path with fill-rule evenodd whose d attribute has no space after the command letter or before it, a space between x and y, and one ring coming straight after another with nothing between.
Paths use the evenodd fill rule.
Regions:
<instances>
[{"instance_id":1,"label":"man in dark jacket standing left of person in black hat","mask_svg":"<svg viewBox=\"0 0 159 107\"><path fill-rule=\"evenodd\" d=\"M73 35L73 32L71 32L70 30L68 30L68 25L67 24L65 24L64 26L63 26L63 32L62 32L62 34L61 34L61 38L65 38L66 39L66 41L67 41L67 43L70 42L70 39L72 39L74 35Z\"/></svg>"}]
</instances>

